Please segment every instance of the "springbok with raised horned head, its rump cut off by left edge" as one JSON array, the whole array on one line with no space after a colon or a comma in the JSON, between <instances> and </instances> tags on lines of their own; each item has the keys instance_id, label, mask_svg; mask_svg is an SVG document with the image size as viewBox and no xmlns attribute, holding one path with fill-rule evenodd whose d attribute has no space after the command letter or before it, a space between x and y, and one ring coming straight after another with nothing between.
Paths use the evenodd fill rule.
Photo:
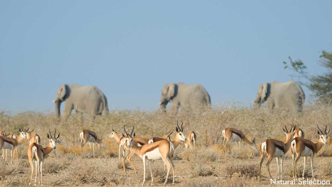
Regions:
<instances>
[{"instance_id":1,"label":"springbok with raised horned head, its rump cut off by left edge","mask_svg":"<svg viewBox=\"0 0 332 187\"><path fill-rule=\"evenodd\" d=\"M11 156L11 162L13 164L14 161L14 149L22 143L22 140L24 138L27 138L27 131L22 130L21 127L19 128L20 135L17 137L17 139L9 138L6 136L0 136L0 149L10 149L10 156Z\"/></svg>"}]
</instances>

